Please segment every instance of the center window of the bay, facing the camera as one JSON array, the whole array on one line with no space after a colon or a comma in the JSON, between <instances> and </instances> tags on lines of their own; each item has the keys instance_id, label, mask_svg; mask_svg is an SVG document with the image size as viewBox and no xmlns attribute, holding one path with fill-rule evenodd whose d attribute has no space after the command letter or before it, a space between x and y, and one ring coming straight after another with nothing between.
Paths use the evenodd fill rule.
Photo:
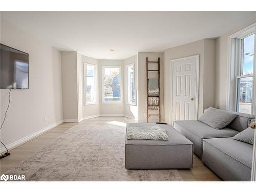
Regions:
<instances>
[{"instance_id":1,"label":"center window of the bay, facing the camera","mask_svg":"<svg viewBox=\"0 0 256 192\"><path fill-rule=\"evenodd\" d=\"M102 96L104 103L121 102L120 67L102 67Z\"/></svg>"}]
</instances>

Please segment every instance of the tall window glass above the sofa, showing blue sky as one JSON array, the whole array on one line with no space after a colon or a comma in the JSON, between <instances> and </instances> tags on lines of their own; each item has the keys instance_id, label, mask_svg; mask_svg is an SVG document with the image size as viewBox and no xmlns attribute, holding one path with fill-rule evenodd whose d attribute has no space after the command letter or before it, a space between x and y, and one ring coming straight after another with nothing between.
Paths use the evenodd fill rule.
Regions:
<instances>
[{"instance_id":1,"label":"tall window glass above the sofa, showing blue sky","mask_svg":"<svg viewBox=\"0 0 256 192\"><path fill-rule=\"evenodd\" d=\"M252 113L254 34L238 39L237 112Z\"/></svg>"}]
</instances>

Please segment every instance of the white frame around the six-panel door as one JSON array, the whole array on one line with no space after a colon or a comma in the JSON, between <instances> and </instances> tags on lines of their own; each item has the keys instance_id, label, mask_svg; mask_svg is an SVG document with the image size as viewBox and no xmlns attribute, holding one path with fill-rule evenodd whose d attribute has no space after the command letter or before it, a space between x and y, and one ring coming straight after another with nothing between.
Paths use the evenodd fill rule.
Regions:
<instances>
[{"instance_id":1,"label":"white frame around the six-panel door","mask_svg":"<svg viewBox=\"0 0 256 192\"><path fill-rule=\"evenodd\" d=\"M198 55L192 55L188 57L182 57L177 59L170 60L170 105L169 105L169 123L173 125L173 72L174 72L174 62L182 61L182 60L188 60L196 58L196 106L195 106L195 115L196 119L198 117L198 98L199 98L199 54Z\"/></svg>"}]
</instances>

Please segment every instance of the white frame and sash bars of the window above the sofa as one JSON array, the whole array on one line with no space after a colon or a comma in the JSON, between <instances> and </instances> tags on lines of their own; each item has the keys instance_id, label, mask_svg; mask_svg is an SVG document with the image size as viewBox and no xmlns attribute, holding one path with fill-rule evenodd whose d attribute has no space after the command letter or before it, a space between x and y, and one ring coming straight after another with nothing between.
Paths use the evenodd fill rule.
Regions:
<instances>
[{"instance_id":1,"label":"white frame and sash bars of the window above the sofa","mask_svg":"<svg viewBox=\"0 0 256 192\"><path fill-rule=\"evenodd\" d=\"M254 34L254 54L252 75L243 75L242 39ZM226 110L236 111L238 109L238 80L244 77L253 78L251 114L256 114L256 23L230 35L228 37L228 68L227 68L227 92Z\"/></svg>"}]
</instances>

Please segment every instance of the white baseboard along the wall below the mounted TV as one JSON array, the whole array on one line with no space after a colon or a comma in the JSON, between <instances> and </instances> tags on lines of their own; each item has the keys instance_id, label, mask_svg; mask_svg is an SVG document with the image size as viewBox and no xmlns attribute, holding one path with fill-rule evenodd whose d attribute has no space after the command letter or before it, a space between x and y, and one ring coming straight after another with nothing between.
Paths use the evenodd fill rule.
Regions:
<instances>
[{"instance_id":1,"label":"white baseboard along the wall below the mounted TV","mask_svg":"<svg viewBox=\"0 0 256 192\"><path fill-rule=\"evenodd\" d=\"M39 136L39 135L41 135L41 134L43 134L43 133L53 129L54 127L60 125L61 123L63 123L63 120L58 121L56 123L53 123L53 124L45 127L44 129L41 129L41 130L39 130L39 131L37 131L35 133L32 133L31 135L28 135L27 137L24 137L22 139L14 141L13 143L10 143L10 144L6 145L6 148L8 148L8 150L12 150L13 148L15 148L15 147L17 147L19 145L22 145L22 144L28 142L29 140L34 139L35 137L37 137L37 136ZM0 148L0 154L2 154L4 152L6 152L6 149L3 146L3 147Z\"/></svg>"}]
</instances>

